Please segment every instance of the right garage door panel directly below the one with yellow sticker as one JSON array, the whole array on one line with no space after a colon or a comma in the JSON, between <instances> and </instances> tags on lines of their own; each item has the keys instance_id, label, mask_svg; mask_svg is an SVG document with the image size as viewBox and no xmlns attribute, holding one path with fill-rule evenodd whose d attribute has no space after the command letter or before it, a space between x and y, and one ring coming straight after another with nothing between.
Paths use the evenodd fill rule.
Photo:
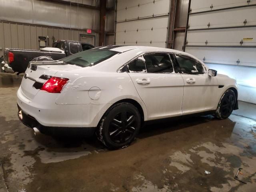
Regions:
<instances>
[{"instance_id":1,"label":"right garage door panel directly below the one with yellow sticker","mask_svg":"<svg viewBox=\"0 0 256 192\"><path fill-rule=\"evenodd\" d=\"M186 47L186 52L206 63L256 67L255 48ZM238 62L239 60L239 62Z\"/></svg>"}]
</instances>

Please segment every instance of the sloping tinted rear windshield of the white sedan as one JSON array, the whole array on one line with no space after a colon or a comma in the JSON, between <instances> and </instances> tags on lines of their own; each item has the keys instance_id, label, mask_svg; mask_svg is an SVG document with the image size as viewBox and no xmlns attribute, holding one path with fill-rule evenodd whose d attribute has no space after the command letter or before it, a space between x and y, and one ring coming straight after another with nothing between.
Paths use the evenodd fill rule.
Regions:
<instances>
[{"instance_id":1,"label":"sloping tinted rear windshield of the white sedan","mask_svg":"<svg viewBox=\"0 0 256 192\"><path fill-rule=\"evenodd\" d=\"M98 50L98 49L90 49L86 51L79 52L77 54L65 57L60 61L65 64L78 65L81 67L88 67L96 65L108 58L118 54L119 52L111 51L111 50Z\"/></svg>"}]
</instances>

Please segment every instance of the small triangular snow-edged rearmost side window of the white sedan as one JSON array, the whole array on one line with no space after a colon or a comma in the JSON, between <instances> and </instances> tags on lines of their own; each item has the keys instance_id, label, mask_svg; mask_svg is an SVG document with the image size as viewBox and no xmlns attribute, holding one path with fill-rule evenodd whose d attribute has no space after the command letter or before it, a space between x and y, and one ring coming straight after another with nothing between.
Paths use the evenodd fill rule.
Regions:
<instances>
[{"instance_id":1,"label":"small triangular snow-edged rearmost side window of the white sedan","mask_svg":"<svg viewBox=\"0 0 256 192\"><path fill-rule=\"evenodd\" d=\"M140 56L127 64L127 72L130 73L146 73L146 64L143 56Z\"/></svg>"}]
</instances>

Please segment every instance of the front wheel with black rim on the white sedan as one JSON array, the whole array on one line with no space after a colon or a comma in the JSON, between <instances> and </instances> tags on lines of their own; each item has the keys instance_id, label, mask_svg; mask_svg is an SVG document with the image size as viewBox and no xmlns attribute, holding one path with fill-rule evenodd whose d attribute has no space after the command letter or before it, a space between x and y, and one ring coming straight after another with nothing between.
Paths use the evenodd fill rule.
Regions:
<instances>
[{"instance_id":1,"label":"front wheel with black rim on the white sedan","mask_svg":"<svg viewBox=\"0 0 256 192\"><path fill-rule=\"evenodd\" d=\"M218 107L215 112L216 117L219 119L228 118L233 112L235 105L236 105L236 94L231 89L226 90L218 103Z\"/></svg>"}]
</instances>

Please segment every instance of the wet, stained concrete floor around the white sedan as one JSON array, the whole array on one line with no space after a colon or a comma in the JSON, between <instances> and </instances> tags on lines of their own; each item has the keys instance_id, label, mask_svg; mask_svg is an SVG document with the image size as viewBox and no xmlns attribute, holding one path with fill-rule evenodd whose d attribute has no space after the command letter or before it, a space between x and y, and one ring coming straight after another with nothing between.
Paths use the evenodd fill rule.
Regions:
<instances>
[{"instance_id":1,"label":"wet, stained concrete floor around the white sedan","mask_svg":"<svg viewBox=\"0 0 256 192\"><path fill-rule=\"evenodd\" d=\"M255 192L255 105L240 102L226 120L146 126L131 146L110 151L95 138L34 136L16 116L20 80L0 74L0 192ZM247 184L234 180L239 167Z\"/></svg>"}]
</instances>

